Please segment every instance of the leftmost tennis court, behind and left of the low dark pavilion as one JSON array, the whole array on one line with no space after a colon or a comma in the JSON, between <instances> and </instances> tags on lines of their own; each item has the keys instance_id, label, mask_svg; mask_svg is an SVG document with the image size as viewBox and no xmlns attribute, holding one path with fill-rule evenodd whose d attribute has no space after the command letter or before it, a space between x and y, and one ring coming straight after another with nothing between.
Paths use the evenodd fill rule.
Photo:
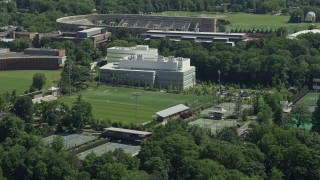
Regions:
<instances>
[{"instance_id":1,"label":"leftmost tennis court, behind and left of the low dark pavilion","mask_svg":"<svg viewBox=\"0 0 320 180\"><path fill-rule=\"evenodd\" d=\"M80 134L71 134L71 135L51 135L44 138L44 141L47 143L51 143L53 138L56 136L61 136L63 138L63 144L66 149L70 149L76 146L80 146L82 144L88 143L97 139L96 136L91 135L80 135Z\"/></svg>"}]
</instances>

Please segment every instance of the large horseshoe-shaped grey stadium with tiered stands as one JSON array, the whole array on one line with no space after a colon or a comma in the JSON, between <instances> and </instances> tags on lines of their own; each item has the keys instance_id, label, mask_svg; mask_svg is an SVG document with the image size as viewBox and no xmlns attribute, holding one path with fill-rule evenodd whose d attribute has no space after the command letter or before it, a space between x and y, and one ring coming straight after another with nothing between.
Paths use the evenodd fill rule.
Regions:
<instances>
[{"instance_id":1,"label":"large horseshoe-shaped grey stadium with tiered stands","mask_svg":"<svg viewBox=\"0 0 320 180\"><path fill-rule=\"evenodd\" d=\"M209 17L169 17L140 14L90 14L68 16L57 19L61 30L76 31L80 27L103 27L114 32L126 27L133 34L148 30L216 32L216 18Z\"/></svg>"}]
</instances>

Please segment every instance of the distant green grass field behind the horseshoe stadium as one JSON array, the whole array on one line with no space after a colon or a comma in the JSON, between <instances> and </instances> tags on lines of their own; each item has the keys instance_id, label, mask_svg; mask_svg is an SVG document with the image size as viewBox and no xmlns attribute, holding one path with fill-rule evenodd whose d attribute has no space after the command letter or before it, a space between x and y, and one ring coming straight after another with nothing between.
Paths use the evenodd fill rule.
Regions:
<instances>
[{"instance_id":1,"label":"distant green grass field behind the horseshoe stadium","mask_svg":"<svg viewBox=\"0 0 320 180\"><path fill-rule=\"evenodd\" d=\"M167 16L187 16L187 17L216 17L231 22L227 29L277 29L281 26L288 28L289 32L307 29L310 23L288 23L289 16L278 16L268 14L248 14L248 13L210 13L210 12L185 12L166 11L159 15ZM314 23L316 26L319 23Z\"/></svg>"}]
</instances>

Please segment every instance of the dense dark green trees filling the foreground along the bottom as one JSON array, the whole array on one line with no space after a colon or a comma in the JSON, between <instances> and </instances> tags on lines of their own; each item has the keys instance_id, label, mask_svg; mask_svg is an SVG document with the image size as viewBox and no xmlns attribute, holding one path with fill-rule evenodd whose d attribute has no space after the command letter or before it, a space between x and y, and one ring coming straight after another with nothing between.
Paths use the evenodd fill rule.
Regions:
<instances>
[{"instance_id":1,"label":"dense dark green trees filling the foreground along the bottom","mask_svg":"<svg viewBox=\"0 0 320 180\"><path fill-rule=\"evenodd\" d=\"M116 149L84 160L7 114L0 121L0 178L8 179L318 179L320 135L272 124L217 134L184 120L157 126L132 157Z\"/></svg>"}]
</instances>

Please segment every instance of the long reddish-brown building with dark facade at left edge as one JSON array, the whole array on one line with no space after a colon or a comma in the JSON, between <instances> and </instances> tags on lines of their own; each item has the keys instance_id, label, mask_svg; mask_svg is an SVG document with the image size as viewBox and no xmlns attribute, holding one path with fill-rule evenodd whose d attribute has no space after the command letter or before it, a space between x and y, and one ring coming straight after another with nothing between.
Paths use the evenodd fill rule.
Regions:
<instances>
[{"instance_id":1,"label":"long reddish-brown building with dark facade at left edge","mask_svg":"<svg viewBox=\"0 0 320 180\"><path fill-rule=\"evenodd\" d=\"M55 70L65 60L61 49L28 48L23 53L0 49L0 70Z\"/></svg>"}]
</instances>

